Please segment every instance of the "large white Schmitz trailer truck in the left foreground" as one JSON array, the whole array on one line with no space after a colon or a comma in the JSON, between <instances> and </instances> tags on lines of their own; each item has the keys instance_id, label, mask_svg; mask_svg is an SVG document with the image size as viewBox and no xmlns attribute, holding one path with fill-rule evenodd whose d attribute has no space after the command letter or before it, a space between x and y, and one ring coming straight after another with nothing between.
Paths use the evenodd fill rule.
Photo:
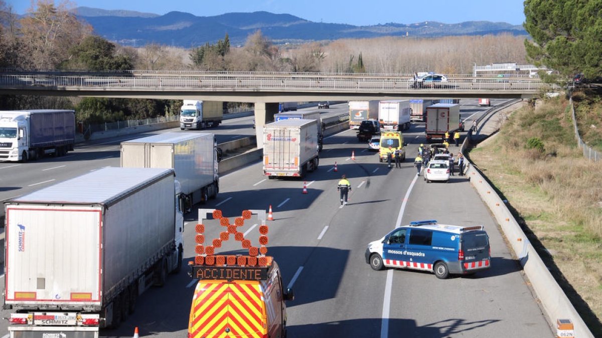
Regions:
<instances>
[{"instance_id":1,"label":"large white Schmitz trailer truck in the left foreground","mask_svg":"<svg viewBox=\"0 0 602 338\"><path fill-rule=\"evenodd\" d=\"M11 338L98 338L179 271L173 169L102 168L5 202Z\"/></svg>"}]
</instances>

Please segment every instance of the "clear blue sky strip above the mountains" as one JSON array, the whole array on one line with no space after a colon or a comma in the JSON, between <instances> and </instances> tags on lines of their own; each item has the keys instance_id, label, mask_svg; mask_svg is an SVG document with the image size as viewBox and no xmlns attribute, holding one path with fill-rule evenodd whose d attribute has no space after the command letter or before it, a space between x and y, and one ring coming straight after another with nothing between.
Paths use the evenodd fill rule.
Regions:
<instances>
[{"instance_id":1,"label":"clear blue sky strip above the mountains","mask_svg":"<svg viewBox=\"0 0 602 338\"><path fill-rule=\"evenodd\" d=\"M25 14L31 0L5 0L17 14ZM37 0L36 0L37 2ZM55 4L60 1L55 0ZM196 16L230 12L287 13L315 22L377 25L472 20L524 22L523 0L71 0L77 6L105 10L134 10L166 14L183 11Z\"/></svg>"}]
</instances>

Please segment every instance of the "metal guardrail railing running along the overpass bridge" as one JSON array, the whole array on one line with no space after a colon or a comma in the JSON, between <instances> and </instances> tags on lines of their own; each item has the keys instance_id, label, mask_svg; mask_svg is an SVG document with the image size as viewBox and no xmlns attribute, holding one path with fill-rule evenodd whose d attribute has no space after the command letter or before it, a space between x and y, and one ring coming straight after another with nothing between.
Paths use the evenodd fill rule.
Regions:
<instances>
[{"instance_id":1,"label":"metal guardrail railing running along the overpass bridge","mask_svg":"<svg viewBox=\"0 0 602 338\"><path fill-rule=\"evenodd\" d=\"M556 90L556 85L545 84L539 79L484 78L465 75L450 78L430 87L413 88L414 81L406 76L340 75L307 73L249 73L203 72L191 75L135 75L135 76L63 76L60 74L0 74L0 88L44 90L276 90L276 91L514 91L539 93ZM426 88L430 87L430 88Z\"/></svg>"}]
</instances>

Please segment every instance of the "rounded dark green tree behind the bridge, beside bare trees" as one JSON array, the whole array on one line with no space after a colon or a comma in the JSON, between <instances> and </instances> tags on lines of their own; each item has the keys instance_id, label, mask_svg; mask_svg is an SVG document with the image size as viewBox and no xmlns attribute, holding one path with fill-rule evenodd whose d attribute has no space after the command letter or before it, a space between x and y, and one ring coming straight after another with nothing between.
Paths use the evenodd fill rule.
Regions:
<instances>
[{"instance_id":1,"label":"rounded dark green tree behind the bridge, beside bare trees","mask_svg":"<svg viewBox=\"0 0 602 338\"><path fill-rule=\"evenodd\" d=\"M115 45L98 35L88 35L82 42L69 49L70 58L61 64L63 69L131 70L131 58L116 55Z\"/></svg>"}]
</instances>

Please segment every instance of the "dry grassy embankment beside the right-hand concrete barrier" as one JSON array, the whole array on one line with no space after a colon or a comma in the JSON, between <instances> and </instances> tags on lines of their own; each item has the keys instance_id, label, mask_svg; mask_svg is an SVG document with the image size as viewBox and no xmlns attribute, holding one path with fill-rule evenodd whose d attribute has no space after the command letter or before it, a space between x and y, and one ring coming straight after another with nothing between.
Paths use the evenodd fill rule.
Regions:
<instances>
[{"instance_id":1,"label":"dry grassy embankment beside the right-hand concrete barrier","mask_svg":"<svg viewBox=\"0 0 602 338\"><path fill-rule=\"evenodd\" d=\"M595 143L602 140L602 104L598 99L587 108L584 100L579 128L587 126L584 138ZM594 336L602 337L602 162L583 158L568 100L513 112L497 137L469 156L509 201Z\"/></svg>"}]
</instances>

